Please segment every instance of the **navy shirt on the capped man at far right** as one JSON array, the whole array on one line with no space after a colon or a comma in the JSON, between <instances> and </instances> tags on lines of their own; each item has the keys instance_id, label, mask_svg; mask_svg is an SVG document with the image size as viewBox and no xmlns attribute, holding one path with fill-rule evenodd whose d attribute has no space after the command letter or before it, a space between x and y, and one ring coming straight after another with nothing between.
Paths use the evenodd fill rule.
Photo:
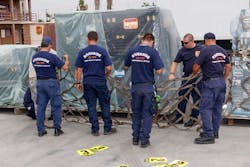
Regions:
<instances>
[{"instance_id":1,"label":"navy shirt on the capped man at far right","mask_svg":"<svg viewBox=\"0 0 250 167\"><path fill-rule=\"evenodd\" d=\"M227 52L218 45L209 45L201 50L195 63L200 65L203 79L224 77L225 64L229 64Z\"/></svg>"}]
</instances>

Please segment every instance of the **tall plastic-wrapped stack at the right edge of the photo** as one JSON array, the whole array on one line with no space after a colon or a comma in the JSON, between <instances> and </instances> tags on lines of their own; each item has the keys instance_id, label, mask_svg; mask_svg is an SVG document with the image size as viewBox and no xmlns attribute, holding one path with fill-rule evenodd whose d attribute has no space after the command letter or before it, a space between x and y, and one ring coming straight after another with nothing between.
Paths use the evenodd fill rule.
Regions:
<instances>
[{"instance_id":1,"label":"tall plastic-wrapped stack at the right edge of the photo","mask_svg":"<svg viewBox=\"0 0 250 167\"><path fill-rule=\"evenodd\" d=\"M250 118L250 9L242 9L231 22L232 86L227 116Z\"/></svg>"}]
</instances>

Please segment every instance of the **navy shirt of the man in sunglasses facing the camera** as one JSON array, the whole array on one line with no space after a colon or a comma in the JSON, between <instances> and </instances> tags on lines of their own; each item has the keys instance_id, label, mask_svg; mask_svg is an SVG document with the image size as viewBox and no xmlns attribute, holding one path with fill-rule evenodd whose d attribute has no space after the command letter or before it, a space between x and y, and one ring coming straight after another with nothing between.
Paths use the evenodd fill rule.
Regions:
<instances>
[{"instance_id":1,"label":"navy shirt of the man in sunglasses facing the camera","mask_svg":"<svg viewBox=\"0 0 250 167\"><path fill-rule=\"evenodd\" d=\"M192 74L193 65L196 58L199 56L200 51L205 48L203 45L195 45L194 48L185 48L184 46L179 50L174 62L183 63L184 76Z\"/></svg>"}]
</instances>

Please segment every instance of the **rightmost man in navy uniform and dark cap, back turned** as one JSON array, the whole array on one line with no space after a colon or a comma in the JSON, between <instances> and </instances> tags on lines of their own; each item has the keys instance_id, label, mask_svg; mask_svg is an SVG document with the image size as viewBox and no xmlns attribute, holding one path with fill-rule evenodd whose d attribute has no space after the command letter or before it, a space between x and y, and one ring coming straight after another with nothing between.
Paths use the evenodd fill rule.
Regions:
<instances>
[{"instance_id":1,"label":"rightmost man in navy uniform and dark cap, back turned","mask_svg":"<svg viewBox=\"0 0 250 167\"><path fill-rule=\"evenodd\" d=\"M216 45L213 33L204 35L206 48L201 50L200 56L193 66L193 74L199 70L203 73L203 86L199 110L203 132L195 139L196 144L213 144L219 138L222 105L225 100L226 78L231 64L227 52Z\"/></svg>"}]
</instances>

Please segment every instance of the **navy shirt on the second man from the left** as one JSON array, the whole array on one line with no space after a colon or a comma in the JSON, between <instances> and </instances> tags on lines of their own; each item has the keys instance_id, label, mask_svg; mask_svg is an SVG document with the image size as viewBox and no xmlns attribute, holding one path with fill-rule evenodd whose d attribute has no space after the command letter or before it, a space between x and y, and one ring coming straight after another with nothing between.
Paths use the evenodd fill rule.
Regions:
<instances>
[{"instance_id":1,"label":"navy shirt on the second man from the left","mask_svg":"<svg viewBox=\"0 0 250 167\"><path fill-rule=\"evenodd\" d=\"M75 66L83 68L83 82L106 81L105 67L112 65L107 51L98 45L80 50Z\"/></svg>"}]
</instances>

